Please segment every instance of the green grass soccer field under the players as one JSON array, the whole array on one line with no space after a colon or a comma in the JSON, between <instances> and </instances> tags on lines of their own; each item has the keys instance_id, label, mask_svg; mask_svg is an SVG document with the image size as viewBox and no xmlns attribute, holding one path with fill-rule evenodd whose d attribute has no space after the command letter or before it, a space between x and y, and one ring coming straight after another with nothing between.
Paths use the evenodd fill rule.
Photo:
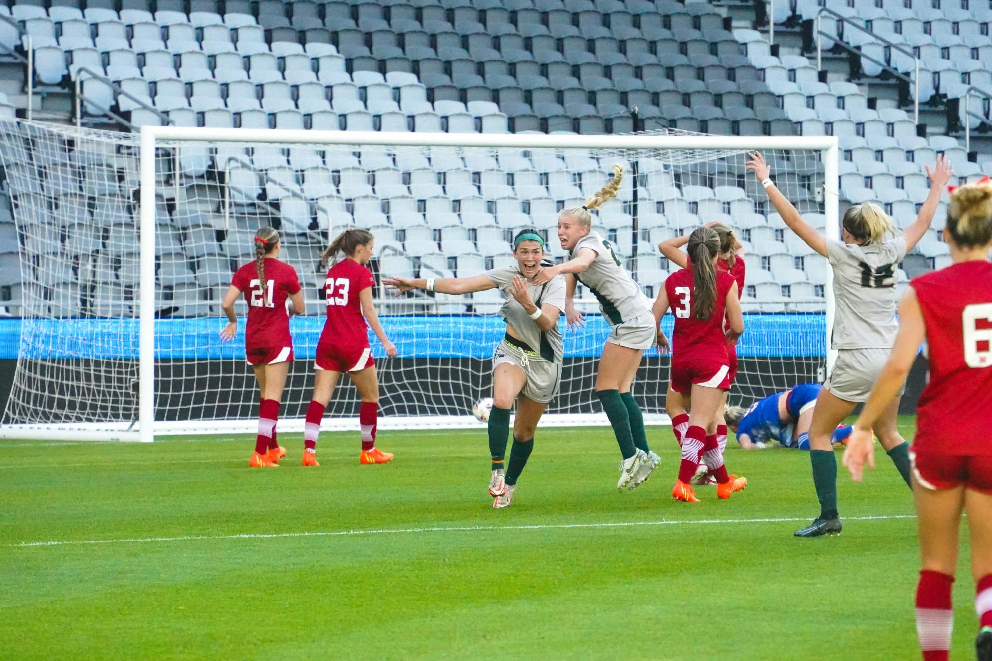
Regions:
<instances>
[{"instance_id":1,"label":"green grass soccer field under the players","mask_svg":"<svg viewBox=\"0 0 992 661\"><path fill-rule=\"evenodd\" d=\"M840 475L843 535L797 539L806 454L735 449L748 488L685 504L671 429L649 439L662 465L618 493L608 429L542 430L506 510L481 427L383 432L375 466L357 432L323 434L319 468L285 435L264 470L244 437L4 442L0 657L919 658L913 504L881 450ZM973 658L966 551L958 578Z\"/></svg>"}]
</instances>

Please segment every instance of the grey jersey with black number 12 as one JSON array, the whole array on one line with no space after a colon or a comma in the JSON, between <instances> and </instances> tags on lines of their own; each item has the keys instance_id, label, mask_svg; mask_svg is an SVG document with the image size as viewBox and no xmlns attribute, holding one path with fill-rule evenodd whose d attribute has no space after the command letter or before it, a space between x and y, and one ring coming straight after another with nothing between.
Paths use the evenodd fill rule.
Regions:
<instances>
[{"instance_id":1,"label":"grey jersey with black number 12","mask_svg":"<svg viewBox=\"0 0 992 661\"><path fill-rule=\"evenodd\" d=\"M826 252L836 304L831 347L892 348L899 331L896 270L906 257L906 239L867 246L827 239Z\"/></svg>"}]
</instances>

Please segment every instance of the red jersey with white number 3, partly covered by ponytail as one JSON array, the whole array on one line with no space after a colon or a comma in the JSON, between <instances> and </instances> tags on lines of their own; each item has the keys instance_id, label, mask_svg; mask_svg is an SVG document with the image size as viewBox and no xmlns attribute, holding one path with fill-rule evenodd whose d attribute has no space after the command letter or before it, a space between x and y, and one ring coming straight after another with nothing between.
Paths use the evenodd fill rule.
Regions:
<instances>
[{"instance_id":1,"label":"red jersey with white number 3, partly covered by ponytail","mask_svg":"<svg viewBox=\"0 0 992 661\"><path fill-rule=\"evenodd\" d=\"M716 301L713 314L706 321L692 316L692 291L694 277L692 270L684 268L676 271L665 281L665 291L669 296L669 307L676 316L675 331L672 332L673 351L688 351L727 360L727 339L723 334L727 292L734 284L734 278L723 269L716 270Z\"/></svg>"}]
</instances>

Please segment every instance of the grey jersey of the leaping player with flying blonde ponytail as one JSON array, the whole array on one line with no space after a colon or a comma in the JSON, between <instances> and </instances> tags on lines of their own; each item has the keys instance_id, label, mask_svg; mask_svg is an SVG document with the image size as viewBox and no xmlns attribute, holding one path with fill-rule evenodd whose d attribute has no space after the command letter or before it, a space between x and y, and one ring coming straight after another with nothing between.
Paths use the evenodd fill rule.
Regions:
<instances>
[{"instance_id":1,"label":"grey jersey of the leaping player with flying blonde ponytail","mask_svg":"<svg viewBox=\"0 0 992 661\"><path fill-rule=\"evenodd\" d=\"M574 259L582 248L595 252L596 258L576 277L599 301L599 311L610 326L651 314L651 302L627 273L609 241L597 232L589 232L575 244L568 259Z\"/></svg>"}]
</instances>

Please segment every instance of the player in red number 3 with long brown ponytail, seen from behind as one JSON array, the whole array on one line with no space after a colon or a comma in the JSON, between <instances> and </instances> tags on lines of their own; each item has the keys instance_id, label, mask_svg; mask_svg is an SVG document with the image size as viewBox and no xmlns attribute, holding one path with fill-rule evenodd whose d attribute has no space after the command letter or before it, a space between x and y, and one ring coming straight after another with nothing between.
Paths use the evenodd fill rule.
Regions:
<instances>
[{"instance_id":1,"label":"player in red number 3 with long brown ponytail, seen from behind","mask_svg":"<svg viewBox=\"0 0 992 661\"><path fill-rule=\"evenodd\" d=\"M744 332L744 317L737 298L737 282L729 273L716 268L720 258L716 231L709 227L693 231L688 239L688 254L692 268L683 268L668 277L652 312L663 349L662 318L670 305L675 314L671 388L690 406L688 429L682 439L682 463L672 497L683 502L699 502L690 482L700 456L716 478L718 497L729 498L747 484L746 478L727 474L714 434L719 408L730 388L727 344Z\"/></svg>"}]
</instances>

